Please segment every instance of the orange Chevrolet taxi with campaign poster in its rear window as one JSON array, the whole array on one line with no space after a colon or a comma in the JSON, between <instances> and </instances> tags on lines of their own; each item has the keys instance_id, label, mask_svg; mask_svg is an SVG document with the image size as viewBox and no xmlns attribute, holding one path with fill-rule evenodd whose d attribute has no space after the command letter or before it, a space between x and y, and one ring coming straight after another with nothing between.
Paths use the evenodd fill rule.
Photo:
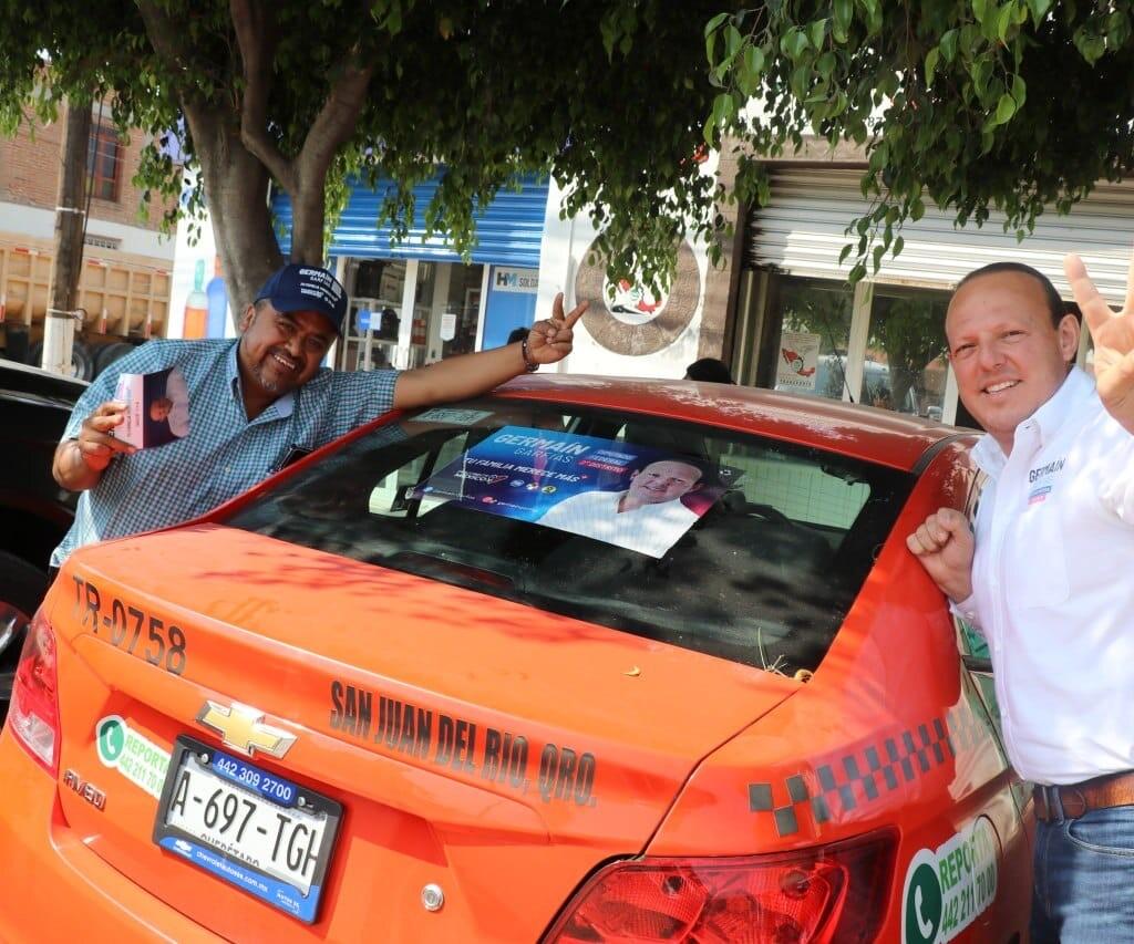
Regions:
<instances>
[{"instance_id":1,"label":"orange Chevrolet taxi with campaign poster in its rear window","mask_svg":"<svg viewBox=\"0 0 1134 944\"><path fill-rule=\"evenodd\" d=\"M972 442L524 377L75 553L0 737L0 939L1023 939L1029 793L905 547Z\"/></svg>"}]
</instances>

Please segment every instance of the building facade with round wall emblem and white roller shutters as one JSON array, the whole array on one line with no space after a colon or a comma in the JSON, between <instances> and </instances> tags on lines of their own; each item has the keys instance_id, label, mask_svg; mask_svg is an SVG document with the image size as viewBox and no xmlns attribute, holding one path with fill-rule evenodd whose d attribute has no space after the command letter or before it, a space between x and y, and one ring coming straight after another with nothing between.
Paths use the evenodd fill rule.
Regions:
<instances>
[{"instance_id":1,"label":"building facade with round wall emblem and white roller shutters","mask_svg":"<svg viewBox=\"0 0 1134 944\"><path fill-rule=\"evenodd\" d=\"M957 227L929 206L902 229L904 249L879 272L847 284L853 241L847 229L873 209L863 197L861 152L769 163L771 199L763 207L721 207L735 224L722 264L684 244L668 297L642 298L615 287L589 261L594 231L559 221L551 193L540 271L540 309L562 290L569 304L591 300L576 329L575 351L560 369L641 377L680 377L697 357L719 357L737 382L866 403L958 425L974 425L957 399L946 352L945 312L954 286L988 263L1016 261L1047 274L1074 311L1063 257L1075 250L1103 295L1125 296L1134 244L1134 182L1100 184L1068 215L1042 214L1017 239L1002 214L983 227ZM727 155L712 168L726 185ZM730 214L730 215L729 215ZM1092 365L1083 333L1078 363Z\"/></svg>"}]
</instances>

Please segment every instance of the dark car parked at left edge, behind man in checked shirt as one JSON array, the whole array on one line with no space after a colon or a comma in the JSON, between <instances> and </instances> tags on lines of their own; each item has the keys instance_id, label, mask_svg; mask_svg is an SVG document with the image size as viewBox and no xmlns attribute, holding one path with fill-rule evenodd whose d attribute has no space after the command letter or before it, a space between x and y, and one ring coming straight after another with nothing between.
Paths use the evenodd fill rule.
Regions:
<instances>
[{"instance_id":1,"label":"dark car parked at left edge, behind man in checked shirt","mask_svg":"<svg viewBox=\"0 0 1134 944\"><path fill-rule=\"evenodd\" d=\"M77 496L51 477L51 457L86 385L0 359L0 718L48 558L75 517Z\"/></svg>"}]
</instances>

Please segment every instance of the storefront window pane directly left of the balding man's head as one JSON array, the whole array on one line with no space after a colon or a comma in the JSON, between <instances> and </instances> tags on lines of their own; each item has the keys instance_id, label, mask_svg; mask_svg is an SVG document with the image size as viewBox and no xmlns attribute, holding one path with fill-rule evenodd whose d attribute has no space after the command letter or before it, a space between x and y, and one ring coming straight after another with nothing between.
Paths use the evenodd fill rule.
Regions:
<instances>
[{"instance_id":1,"label":"storefront window pane directly left of the balding man's head","mask_svg":"<svg viewBox=\"0 0 1134 944\"><path fill-rule=\"evenodd\" d=\"M875 286L857 402L941 418L948 304L947 292Z\"/></svg>"}]
</instances>

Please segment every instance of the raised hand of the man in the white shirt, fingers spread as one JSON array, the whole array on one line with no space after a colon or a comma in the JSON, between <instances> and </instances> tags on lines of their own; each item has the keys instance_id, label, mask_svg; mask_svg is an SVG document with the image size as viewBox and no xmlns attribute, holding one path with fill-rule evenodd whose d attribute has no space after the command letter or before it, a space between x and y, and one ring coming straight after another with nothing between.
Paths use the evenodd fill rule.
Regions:
<instances>
[{"instance_id":1,"label":"raised hand of the man in the white shirt, fingers spread","mask_svg":"<svg viewBox=\"0 0 1134 944\"><path fill-rule=\"evenodd\" d=\"M1064 260L1075 301L1094 340L1094 382L1102 406L1123 427L1134 433L1134 256L1126 275L1126 300L1117 314L1086 274L1074 253Z\"/></svg>"}]
</instances>

